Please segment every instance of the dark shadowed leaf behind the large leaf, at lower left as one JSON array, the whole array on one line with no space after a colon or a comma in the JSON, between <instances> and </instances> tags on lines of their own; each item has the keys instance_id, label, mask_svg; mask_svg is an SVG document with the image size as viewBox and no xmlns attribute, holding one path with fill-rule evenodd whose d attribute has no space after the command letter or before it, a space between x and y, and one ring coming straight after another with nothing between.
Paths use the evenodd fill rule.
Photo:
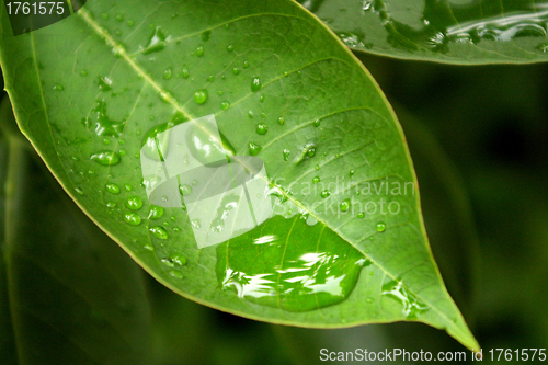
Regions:
<instances>
[{"instance_id":1,"label":"dark shadowed leaf behind the large leaf, at lower left","mask_svg":"<svg viewBox=\"0 0 548 365\"><path fill-rule=\"evenodd\" d=\"M1 110L11 111L7 98ZM9 145L2 265L16 363L149 364L141 271L34 163L26 140Z\"/></svg>"}]
</instances>

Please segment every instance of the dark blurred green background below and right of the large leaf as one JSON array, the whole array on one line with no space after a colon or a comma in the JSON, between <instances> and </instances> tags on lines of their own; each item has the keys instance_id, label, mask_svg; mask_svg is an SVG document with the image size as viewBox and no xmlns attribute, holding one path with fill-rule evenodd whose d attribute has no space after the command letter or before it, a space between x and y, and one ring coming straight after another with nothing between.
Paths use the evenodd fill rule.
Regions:
<instances>
[{"instance_id":1,"label":"dark blurred green background below and right of the large leaf","mask_svg":"<svg viewBox=\"0 0 548 365\"><path fill-rule=\"evenodd\" d=\"M435 259L483 351L547 347L548 65L359 58L400 117ZM419 323L310 330L255 322L142 274L161 365L320 364L321 349L465 350Z\"/></svg>"}]
</instances>

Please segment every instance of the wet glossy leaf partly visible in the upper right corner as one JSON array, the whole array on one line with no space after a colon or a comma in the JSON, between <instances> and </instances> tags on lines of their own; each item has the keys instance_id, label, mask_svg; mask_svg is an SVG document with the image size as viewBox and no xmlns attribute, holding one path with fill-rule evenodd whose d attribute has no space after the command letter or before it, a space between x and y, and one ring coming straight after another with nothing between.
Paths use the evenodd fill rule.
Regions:
<instances>
[{"instance_id":1,"label":"wet glossy leaf partly visible in the upper right corner","mask_svg":"<svg viewBox=\"0 0 548 365\"><path fill-rule=\"evenodd\" d=\"M299 0L352 49L446 64L548 61L548 2Z\"/></svg>"}]
</instances>

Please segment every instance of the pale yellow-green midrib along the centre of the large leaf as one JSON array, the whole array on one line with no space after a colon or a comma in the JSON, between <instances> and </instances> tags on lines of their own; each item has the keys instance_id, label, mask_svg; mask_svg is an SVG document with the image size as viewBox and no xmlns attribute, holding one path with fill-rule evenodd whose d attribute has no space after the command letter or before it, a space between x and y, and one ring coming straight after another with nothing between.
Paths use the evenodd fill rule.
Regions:
<instances>
[{"instance_id":1,"label":"pale yellow-green midrib along the centre of the large leaf","mask_svg":"<svg viewBox=\"0 0 548 365\"><path fill-rule=\"evenodd\" d=\"M90 13L88 12L88 10L85 9L80 9L77 14L79 16L81 16L83 19L83 21L85 23L88 23L92 28L93 31L102 38L106 39L107 44L110 44L117 53L118 55L122 56L123 59L125 59L128 65L137 72L138 76L141 76L147 82L149 82L152 88L155 88L159 93L165 95L167 98L167 101L173 105L173 107L175 107L180 113L182 113L186 118L191 119L192 121L192 116L185 111L183 110L178 103L176 103L176 100L174 100L174 98L172 98L165 90L163 90L155 80L152 80L152 78L150 76L148 76L130 57L129 55L127 54L127 52L125 50L125 48L118 44L107 32L105 32L101 25L99 25L94 20L93 18L90 15ZM327 27L326 27L327 28ZM240 162L242 163L242 162ZM244 164L244 163L243 163ZM259 176L260 179L262 179L264 182L266 182L270 186L272 187L277 187L275 186L273 183L271 183L267 179L264 179L263 176ZM309 215L311 215L312 217L315 217L319 223L321 223L322 225L324 225L326 227L329 227L333 232L335 232L339 237L341 237L344 241L349 242L350 244L352 244L355 249L357 249L365 258L367 258L368 260L372 261L372 263L374 263L379 270L381 270L388 277L390 277L391 280L395 280L395 281L398 281L397 277L395 275L392 275L390 272L388 272L383 265L380 265L376 260L374 260L373 258L370 258L369 255L366 254L366 252L361 249L359 247L356 247L351 240L346 239L345 237L343 237L342 232L335 230L334 228L332 228L331 226L328 225L327 221L324 221L323 219L321 219L320 217L318 217L317 215L313 214L313 212L309 212L309 209L307 209L306 206L304 206L302 204L300 204L300 202L294 199L290 195L286 194L284 191L283 192L283 195L292 201L295 205L297 205L300 209L305 210L305 212L308 212ZM407 285L406 285L407 286ZM430 304L430 300L426 300L424 299L423 297L421 297L419 294L414 293L413 290L411 290L409 287L408 289L414 295L416 296L418 298L420 298L421 300L423 300L425 304L427 304L434 311L436 311L441 317L445 318L446 319L446 322L449 323L450 327L455 328L457 330L457 332L461 332L460 328L458 326L456 326L455 322L453 322L453 320L450 320L443 311L441 311L436 306L433 306Z\"/></svg>"}]
</instances>

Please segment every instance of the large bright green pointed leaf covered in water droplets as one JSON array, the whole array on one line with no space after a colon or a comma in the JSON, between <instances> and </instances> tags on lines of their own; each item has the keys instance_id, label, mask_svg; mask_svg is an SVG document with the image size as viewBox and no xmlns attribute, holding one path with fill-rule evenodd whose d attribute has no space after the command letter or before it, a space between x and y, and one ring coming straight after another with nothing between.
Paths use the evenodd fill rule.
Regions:
<instances>
[{"instance_id":1,"label":"large bright green pointed leaf covered in water droplets","mask_svg":"<svg viewBox=\"0 0 548 365\"><path fill-rule=\"evenodd\" d=\"M422 321L478 349L430 252L391 107L298 4L89 1L27 35L2 26L1 62L21 129L77 204L172 290L274 323ZM258 199L272 209L256 209L256 191L196 198L189 210L149 203L141 160L162 169L178 156L164 152L189 142L161 130L209 115L219 134L202 118L189 132L189 153L202 163L227 153L235 186L240 172L264 163L247 186L264 185ZM222 166L209 167L220 174ZM182 182L190 174L175 182L185 204L225 182L215 174ZM196 212L217 217L201 223ZM256 227L233 231L227 217L246 212ZM204 229L231 238L198 249Z\"/></svg>"}]
</instances>

